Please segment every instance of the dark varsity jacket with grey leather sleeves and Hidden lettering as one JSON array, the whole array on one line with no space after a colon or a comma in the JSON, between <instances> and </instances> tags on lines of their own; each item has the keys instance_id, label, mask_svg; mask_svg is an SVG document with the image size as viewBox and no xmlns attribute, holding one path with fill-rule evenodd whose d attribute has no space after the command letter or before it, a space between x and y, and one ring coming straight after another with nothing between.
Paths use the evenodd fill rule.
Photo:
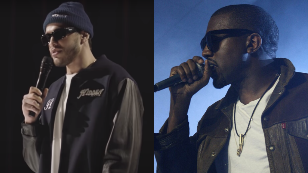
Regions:
<instances>
[{"instance_id":1,"label":"dark varsity jacket with grey leather sleeves and Hidden lettering","mask_svg":"<svg viewBox=\"0 0 308 173\"><path fill-rule=\"evenodd\" d=\"M34 172L51 171L55 113L63 76L49 87L41 117L22 123L23 157ZM63 122L59 173L135 173L141 148L142 98L120 65L97 58L71 80Z\"/></svg>"}]
</instances>

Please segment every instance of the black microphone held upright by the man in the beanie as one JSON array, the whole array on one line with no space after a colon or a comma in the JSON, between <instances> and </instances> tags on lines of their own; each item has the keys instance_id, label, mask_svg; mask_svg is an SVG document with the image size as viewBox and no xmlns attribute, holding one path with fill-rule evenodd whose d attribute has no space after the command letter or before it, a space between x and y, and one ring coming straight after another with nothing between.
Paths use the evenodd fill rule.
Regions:
<instances>
[{"instance_id":1,"label":"black microphone held upright by the man in the beanie","mask_svg":"<svg viewBox=\"0 0 308 173\"><path fill-rule=\"evenodd\" d=\"M46 83L48 74L49 74L52 66L53 66L52 58L48 57L48 56L44 56L44 58L42 59L41 68L40 68L40 72L39 72L39 79L38 79L38 82L36 83L36 87L42 93L43 93L43 90L45 88L45 83ZM35 112L30 111L29 115L34 117L35 116Z\"/></svg>"}]
</instances>

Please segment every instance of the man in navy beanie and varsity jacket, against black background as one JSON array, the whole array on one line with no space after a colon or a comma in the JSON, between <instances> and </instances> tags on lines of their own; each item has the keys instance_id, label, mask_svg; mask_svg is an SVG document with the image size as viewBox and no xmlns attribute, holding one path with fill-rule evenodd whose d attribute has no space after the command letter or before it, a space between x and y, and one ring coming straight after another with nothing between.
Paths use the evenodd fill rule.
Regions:
<instances>
[{"instance_id":1,"label":"man in navy beanie and varsity jacket, against black background","mask_svg":"<svg viewBox=\"0 0 308 173\"><path fill-rule=\"evenodd\" d=\"M67 74L22 100L23 157L37 173L135 173L144 107L123 67L91 52L93 26L83 5L51 11L41 40ZM29 116L29 112L35 116Z\"/></svg>"}]
</instances>

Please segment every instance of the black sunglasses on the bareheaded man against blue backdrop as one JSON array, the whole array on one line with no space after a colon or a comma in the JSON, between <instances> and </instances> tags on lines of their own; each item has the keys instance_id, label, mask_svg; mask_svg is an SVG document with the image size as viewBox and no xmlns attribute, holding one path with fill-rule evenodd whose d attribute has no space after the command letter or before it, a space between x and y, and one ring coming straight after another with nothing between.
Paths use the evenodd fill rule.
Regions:
<instances>
[{"instance_id":1,"label":"black sunglasses on the bareheaded man against blue backdrop","mask_svg":"<svg viewBox=\"0 0 308 173\"><path fill-rule=\"evenodd\" d=\"M219 42L225 38L233 37L233 36L240 36L242 34L254 33L254 31L247 30L247 29L224 29L224 30L212 30L205 34L205 36L201 40L201 49L202 51L205 48L205 45L208 46L209 50L213 52L214 43L218 40ZM217 37L213 34L228 34L223 37Z\"/></svg>"}]
</instances>

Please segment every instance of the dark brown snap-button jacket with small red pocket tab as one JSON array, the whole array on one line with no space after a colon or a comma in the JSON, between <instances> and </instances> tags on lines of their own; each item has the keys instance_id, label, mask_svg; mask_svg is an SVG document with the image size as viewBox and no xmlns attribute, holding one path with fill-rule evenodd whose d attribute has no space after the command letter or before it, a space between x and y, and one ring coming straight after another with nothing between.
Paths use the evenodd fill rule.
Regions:
<instances>
[{"instance_id":1,"label":"dark brown snap-button jacket with small red pocket tab","mask_svg":"<svg viewBox=\"0 0 308 173\"><path fill-rule=\"evenodd\" d=\"M270 171L308 172L308 74L295 72L288 59L274 62L281 76L261 116ZM191 137L188 119L166 134L167 119L154 133L157 172L216 172L213 163L228 142L237 97L230 86L225 97L207 109Z\"/></svg>"}]
</instances>

